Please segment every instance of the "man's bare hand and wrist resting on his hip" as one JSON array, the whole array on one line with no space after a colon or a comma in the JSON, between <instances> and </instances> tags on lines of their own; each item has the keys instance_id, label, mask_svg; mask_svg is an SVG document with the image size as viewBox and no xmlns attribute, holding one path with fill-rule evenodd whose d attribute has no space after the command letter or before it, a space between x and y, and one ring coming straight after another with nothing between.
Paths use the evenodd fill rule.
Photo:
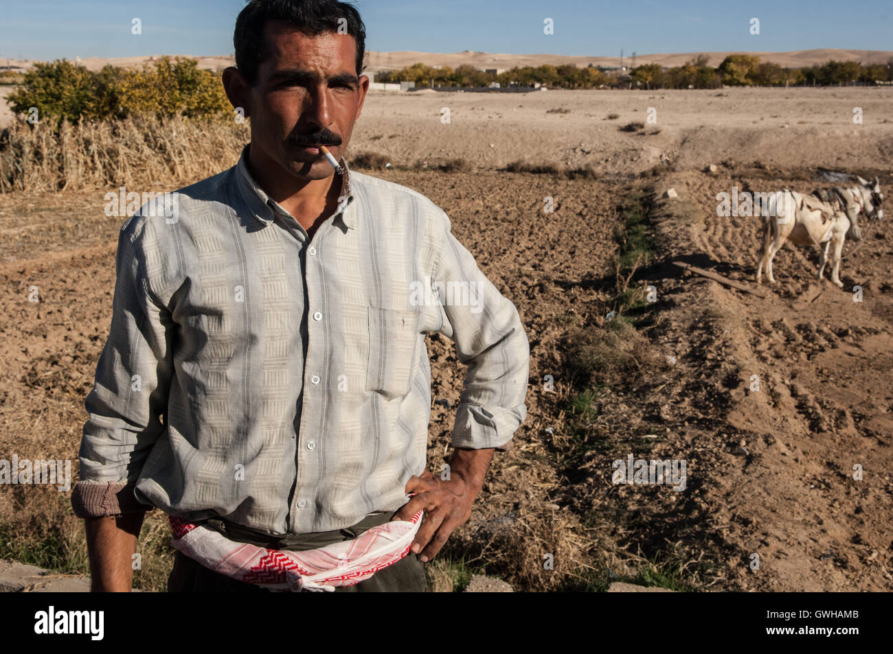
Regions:
<instances>
[{"instance_id":1,"label":"man's bare hand and wrist resting on his hip","mask_svg":"<svg viewBox=\"0 0 893 654\"><path fill-rule=\"evenodd\" d=\"M415 534L412 551L421 552L419 559L433 559L457 526L472 517L472 504L480 493L484 475L494 450L457 449L450 459L446 479L425 470L406 482L406 493L415 493L410 501L396 512L394 520L409 520L419 509L424 519Z\"/></svg>"}]
</instances>

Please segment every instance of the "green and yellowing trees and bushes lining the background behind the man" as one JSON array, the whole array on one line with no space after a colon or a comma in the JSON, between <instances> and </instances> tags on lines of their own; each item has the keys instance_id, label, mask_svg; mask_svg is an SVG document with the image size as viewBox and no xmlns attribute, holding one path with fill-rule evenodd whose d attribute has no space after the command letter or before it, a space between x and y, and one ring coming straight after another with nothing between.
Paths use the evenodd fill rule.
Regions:
<instances>
[{"instance_id":1,"label":"green and yellowing trees and bushes lining the background behind the man","mask_svg":"<svg viewBox=\"0 0 893 654\"><path fill-rule=\"evenodd\" d=\"M702 54L682 66L664 69L645 63L628 71L580 68L572 64L515 67L501 73L477 70L470 64L455 69L414 63L376 76L376 81L413 81L427 87L530 86L553 88L718 88L725 86L832 86L857 82L893 81L893 59L887 63L830 61L802 68L782 68L750 54L730 54L719 66L707 65ZM16 73L21 75L21 73ZM16 81L19 81L18 79ZM111 64L92 71L66 60L38 62L24 74L21 86L7 98L16 113L54 120L122 119L138 113L160 117L231 118L232 108L221 75L201 70L188 57L161 57L145 68Z\"/></svg>"}]
</instances>

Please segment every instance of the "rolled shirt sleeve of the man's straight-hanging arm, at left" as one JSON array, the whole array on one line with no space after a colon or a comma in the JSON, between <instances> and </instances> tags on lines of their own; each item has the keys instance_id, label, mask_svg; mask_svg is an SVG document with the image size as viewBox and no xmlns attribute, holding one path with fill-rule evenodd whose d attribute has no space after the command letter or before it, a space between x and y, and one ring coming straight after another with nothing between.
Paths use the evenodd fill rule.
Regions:
<instances>
[{"instance_id":1,"label":"rolled shirt sleeve of the man's straight-hanging arm, at left","mask_svg":"<svg viewBox=\"0 0 893 654\"><path fill-rule=\"evenodd\" d=\"M132 222L129 221L129 222ZM71 493L78 517L145 511L133 490L158 436L171 377L171 314L150 297L131 231L121 229L112 327L88 393L80 475Z\"/></svg>"}]
</instances>

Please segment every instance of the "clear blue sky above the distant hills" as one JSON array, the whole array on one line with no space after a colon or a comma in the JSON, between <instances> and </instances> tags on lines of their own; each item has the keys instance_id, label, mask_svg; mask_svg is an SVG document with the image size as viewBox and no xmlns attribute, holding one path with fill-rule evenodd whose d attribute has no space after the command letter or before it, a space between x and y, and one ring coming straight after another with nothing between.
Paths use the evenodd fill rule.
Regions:
<instances>
[{"instance_id":1,"label":"clear blue sky above the distant hills","mask_svg":"<svg viewBox=\"0 0 893 654\"><path fill-rule=\"evenodd\" d=\"M0 0L0 57L231 54L244 0ZM624 54L893 49L893 4L714 0L358 0L369 50ZM543 34L543 20L555 34ZM760 19L760 35L749 21ZM142 34L130 33L131 20Z\"/></svg>"}]
</instances>

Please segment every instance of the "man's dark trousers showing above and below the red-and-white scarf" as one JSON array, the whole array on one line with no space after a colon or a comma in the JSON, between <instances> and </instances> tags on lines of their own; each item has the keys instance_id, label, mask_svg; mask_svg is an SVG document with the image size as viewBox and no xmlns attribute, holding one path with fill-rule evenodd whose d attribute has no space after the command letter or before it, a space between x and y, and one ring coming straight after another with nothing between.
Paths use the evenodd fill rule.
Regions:
<instances>
[{"instance_id":1,"label":"man's dark trousers showing above and below the red-and-white scarf","mask_svg":"<svg viewBox=\"0 0 893 654\"><path fill-rule=\"evenodd\" d=\"M253 529L230 525L222 520L209 520L207 525L217 529L230 540L248 542L271 550L315 550L333 542L347 541L363 534L372 526L383 525L395 512L371 513L355 525L330 532L287 535L270 540L269 535ZM410 552L393 566L379 570L359 584L342 586L335 592L425 592L425 570L418 554ZM173 570L168 577L168 592L270 592L255 584L246 584L227 575L204 567L181 552L175 552Z\"/></svg>"}]
</instances>

